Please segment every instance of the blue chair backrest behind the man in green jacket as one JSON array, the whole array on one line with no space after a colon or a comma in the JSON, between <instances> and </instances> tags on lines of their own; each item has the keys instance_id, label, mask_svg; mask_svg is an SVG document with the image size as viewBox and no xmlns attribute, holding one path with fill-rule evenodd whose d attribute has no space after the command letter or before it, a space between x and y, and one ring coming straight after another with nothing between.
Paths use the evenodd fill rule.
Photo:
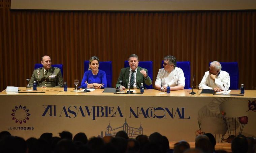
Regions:
<instances>
[{"instance_id":1,"label":"blue chair backrest behind the man in green jacket","mask_svg":"<svg viewBox=\"0 0 256 153\"><path fill-rule=\"evenodd\" d=\"M142 68L146 68L148 70L148 75L150 77L150 79L153 79L153 61L139 61L139 65ZM129 62L128 61L124 61L124 67L129 67ZM153 86L147 86L144 85L147 89L153 89Z\"/></svg>"}]
</instances>

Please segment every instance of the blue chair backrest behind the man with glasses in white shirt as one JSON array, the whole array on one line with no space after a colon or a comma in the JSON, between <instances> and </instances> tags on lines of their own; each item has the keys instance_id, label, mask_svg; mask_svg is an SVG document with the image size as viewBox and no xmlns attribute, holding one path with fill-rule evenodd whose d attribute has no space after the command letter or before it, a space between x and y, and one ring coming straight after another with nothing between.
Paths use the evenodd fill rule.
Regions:
<instances>
[{"instance_id":1,"label":"blue chair backrest behind the man with glasses in white shirt","mask_svg":"<svg viewBox=\"0 0 256 153\"><path fill-rule=\"evenodd\" d=\"M164 61L162 61L162 68L163 68L163 63ZM176 63L176 67L179 67L183 70L184 73L184 77L185 77L185 87L184 89L189 89L190 87L190 61L182 61L182 62L177 62Z\"/></svg>"}]
</instances>

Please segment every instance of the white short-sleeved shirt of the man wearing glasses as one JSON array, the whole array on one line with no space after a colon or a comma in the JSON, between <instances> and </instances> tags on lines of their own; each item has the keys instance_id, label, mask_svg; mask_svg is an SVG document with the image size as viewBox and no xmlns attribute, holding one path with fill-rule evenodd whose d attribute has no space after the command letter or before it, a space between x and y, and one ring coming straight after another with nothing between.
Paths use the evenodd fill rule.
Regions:
<instances>
[{"instance_id":1,"label":"white short-sleeved shirt of the man wearing glasses","mask_svg":"<svg viewBox=\"0 0 256 153\"><path fill-rule=\"evenodd\" d=\"M169 85L170 87L175 87L182 85L185 87L185 77L183 70L179 67L175 67L171 72L164 70L164 68L159 69L156 77L155 85Z\"/></svg>"}]
</instances>

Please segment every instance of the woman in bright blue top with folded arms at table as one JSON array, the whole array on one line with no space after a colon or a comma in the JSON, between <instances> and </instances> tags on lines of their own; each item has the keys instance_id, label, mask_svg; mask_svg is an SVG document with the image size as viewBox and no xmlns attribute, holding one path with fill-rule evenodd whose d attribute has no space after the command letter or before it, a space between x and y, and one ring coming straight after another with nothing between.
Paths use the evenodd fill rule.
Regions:
<instances>
[{"instance_id":1,"label":"woman in bright blue top with folded arms at table","mask_svg":"<svg viewBox=\"0 0 256 153\"><path fill-rule=\"evenodd\" d=\"M103 89L107 87L105 71L99 69L99 58L93 56L89 60L89 70L84 73L81 88Z\"/></svg>"}]
</instances>

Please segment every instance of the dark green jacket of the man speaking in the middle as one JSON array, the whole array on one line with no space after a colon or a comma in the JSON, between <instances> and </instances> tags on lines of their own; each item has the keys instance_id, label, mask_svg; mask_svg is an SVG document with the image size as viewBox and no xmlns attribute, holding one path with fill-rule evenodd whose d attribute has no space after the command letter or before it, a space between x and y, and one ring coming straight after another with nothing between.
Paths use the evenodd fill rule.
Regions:
<instances>
[{"instance_id":1,"label":"dark green jacket of the man speaking in the middle","mask_svg":"<svg viewBox=\"0 0 256 153\"><path fill-rule=\"evenodd\" d=\"M147 78L144 78L143 74L140 73L140 71L144 69L146 72L147 72ZM121 72L119 74L119 77L118 77L118 81L117 81L117 84L116 84L116 88L118 88L119 86L121 86L120 82L119 81L123 81L123 86L125 88L128 88L128 83L129 83L129 75L130 75L130 67L126 67L126 68L122 68L121 69ZM152 84L152 80L150 79L150 77L148 76L148 70L146 68L141 68L138 66L138 69L137 69L137 74L136 74L136 86L137 86L137 89L140 88L140 84L143 83L143 85L148 85L150 86Z\"/></svg>"}]
</instances>

